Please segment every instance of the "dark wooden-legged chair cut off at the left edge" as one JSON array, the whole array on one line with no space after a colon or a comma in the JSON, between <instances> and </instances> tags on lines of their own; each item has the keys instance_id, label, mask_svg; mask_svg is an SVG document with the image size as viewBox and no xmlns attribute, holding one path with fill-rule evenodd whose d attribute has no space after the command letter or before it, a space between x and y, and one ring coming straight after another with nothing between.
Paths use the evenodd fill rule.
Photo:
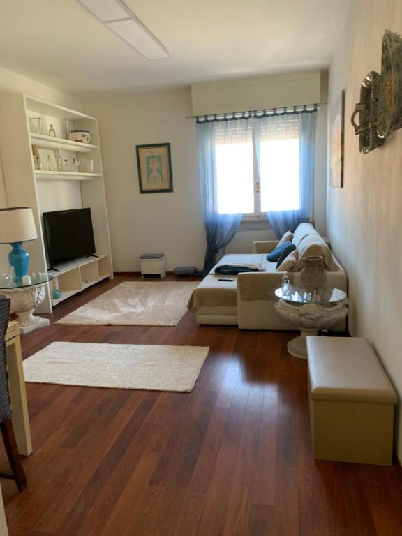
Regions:
<instances>
[{"instance_id":1,"label":"dark wooden-legged chair cut off at the left edge","mask_svg":"<svg viewBox=\"0 0 402 536\"><path fill-rule=\"evenodd\" d=\"M0 431L11 466L11 472L0 472L0 478L15 480L18 491L21 492L27 487L27 479L22 468L20 453L17 449L13 424L11 422L10 394L8 392L6 367L6 344L4 343L9 314L10 300L4 296L0 296Z\"/></svg>"}]
</instances>

